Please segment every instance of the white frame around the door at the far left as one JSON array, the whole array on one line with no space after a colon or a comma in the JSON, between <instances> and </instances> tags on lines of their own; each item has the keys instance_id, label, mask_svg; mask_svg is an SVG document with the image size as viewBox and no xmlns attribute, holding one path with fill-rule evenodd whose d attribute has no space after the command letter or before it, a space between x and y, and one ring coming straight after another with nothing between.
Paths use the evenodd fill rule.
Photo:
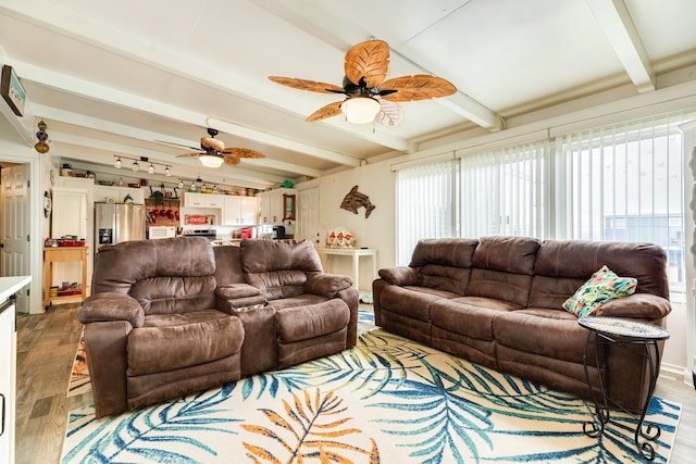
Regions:
<instances>
[{"instance_id":1,"label":"white frame around the door at the far left","mask_svg":"<svg viewBox=\"0 0 696 464\"><path fill-rule=\"evenodd\" d=\"M44 288L44 239L41 238L42 218L38 215L42 211L42 193L41 193L41 160L39 153L34 152L32 147L26 148L24 154L9 154L7 150L0 149L0 160L17 163L29 164L29 269L32 273L32 283L29 284L29 314L40 314L46 311L42 305ZM38 221L36 221L36 220Z\"/></svg>"}]
</instances>

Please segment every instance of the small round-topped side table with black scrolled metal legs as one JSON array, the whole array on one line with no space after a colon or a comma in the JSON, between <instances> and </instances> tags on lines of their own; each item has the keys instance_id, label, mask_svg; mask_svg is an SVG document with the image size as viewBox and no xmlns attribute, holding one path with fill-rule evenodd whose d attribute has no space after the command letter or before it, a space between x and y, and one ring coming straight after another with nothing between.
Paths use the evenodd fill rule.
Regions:
<instances>
[{"instance_id":1,"label":"small round-topped side table with black scrolled metal legs","mask_svg":"<svg viewBox=\"0 0 696 464\"><path fill-rule=\"evenodd\" d=\"M587 381L589 393L593 402L595 403L595 415L597 416L597 421L599 421L599 428L597 428L594 421L584 423L583 431L588 437L600 436L605 431L605 425L611 419L609 413L610 409L619 409L638 421L634 432L635 446L644 459L652 461L655 459L655 448L651 443L660 437L661 430L658 424L650 423L646 425L644 424L644 421L645 414L650 405L650 399L652 398L657 377L660 372L660 351L658 341L668 339L670 337L669 331L655 325L622 317L589 316L577 319L577 323L587 329L587 338L585 339L585 348L583 352L583 366L585 369L585 380ZM597 398L595 389L592 388L589 371L587 367L587 348L591 343L595 343L596 346L643 346L643 356L648 362L650 379L647 398L643 409L639 411L639 415L617 404L611 398L609 398L607 393L607 385L601 374L599 375L599 386L601 388L602 398ZM597 369L601 372L599 352L600 350L597 347L597 349L595 349L595 365L597 366ZM645 441L641 442L641 438L645 439Z\"/></svg>"}]
</instances>

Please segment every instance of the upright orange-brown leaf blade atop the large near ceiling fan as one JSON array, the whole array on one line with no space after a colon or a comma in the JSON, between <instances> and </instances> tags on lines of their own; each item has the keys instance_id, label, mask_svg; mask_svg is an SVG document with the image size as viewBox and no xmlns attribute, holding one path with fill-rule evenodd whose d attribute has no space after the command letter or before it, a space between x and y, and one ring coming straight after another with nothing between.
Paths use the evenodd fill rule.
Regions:
<instances>
[{"instance_id":1,"label":"upright orange-brown leaf blade atop the large near ceiling fan","mask_svg":"<svg viewBox=\"0 0 696 464\"><path fill-rule=\"evenodd\" d=\"M353 46L346 53L346 77L358 85L364 77L368 87L378 87L387 77L389 46L383 40L368 40Z\"/></svg>"}]
</instances>

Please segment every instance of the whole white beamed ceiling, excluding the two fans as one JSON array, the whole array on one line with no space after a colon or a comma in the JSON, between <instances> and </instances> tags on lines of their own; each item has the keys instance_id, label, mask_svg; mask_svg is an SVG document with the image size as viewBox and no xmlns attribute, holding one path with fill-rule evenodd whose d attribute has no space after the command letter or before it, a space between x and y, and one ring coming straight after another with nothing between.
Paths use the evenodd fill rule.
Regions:
<instances>
[{"instance_id":1,"label":"whole white beamed ceiling, excluding the two fans","mask_svg":"<svg viewBox=\"0 0 696 464\"><path fill-rule=\"evenodd\" d=\"M53 155L104 170L148 156L175 177L263 188L695 80L694 18L693 0L0 0L0 58ZM346 51L371 38L390 46L387 78L433 74L458 93L402 103L397 127L307 123L341 97L268 79L341 85ZM208 126L266 158L210 171L153 141L197 146Z\"/></svg>"}]
</instances>

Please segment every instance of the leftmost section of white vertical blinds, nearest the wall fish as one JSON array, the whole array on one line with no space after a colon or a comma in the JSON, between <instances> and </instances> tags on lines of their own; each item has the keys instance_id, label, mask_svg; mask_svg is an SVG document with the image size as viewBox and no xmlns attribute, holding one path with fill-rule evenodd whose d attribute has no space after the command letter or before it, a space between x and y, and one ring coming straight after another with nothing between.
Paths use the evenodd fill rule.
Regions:
<instances>
[{"instance_id":1,"label":"leftmost section of white vertical blinds, nearest the wall fish","mask_svg":"<svg viewBox=\"0 0 696 464\"><path fill-rule=\"evenodd\" d=\"M457 237L457 160L397 172L397 265L407 265L422 238Z\"/></svg>"}]
</instances>

